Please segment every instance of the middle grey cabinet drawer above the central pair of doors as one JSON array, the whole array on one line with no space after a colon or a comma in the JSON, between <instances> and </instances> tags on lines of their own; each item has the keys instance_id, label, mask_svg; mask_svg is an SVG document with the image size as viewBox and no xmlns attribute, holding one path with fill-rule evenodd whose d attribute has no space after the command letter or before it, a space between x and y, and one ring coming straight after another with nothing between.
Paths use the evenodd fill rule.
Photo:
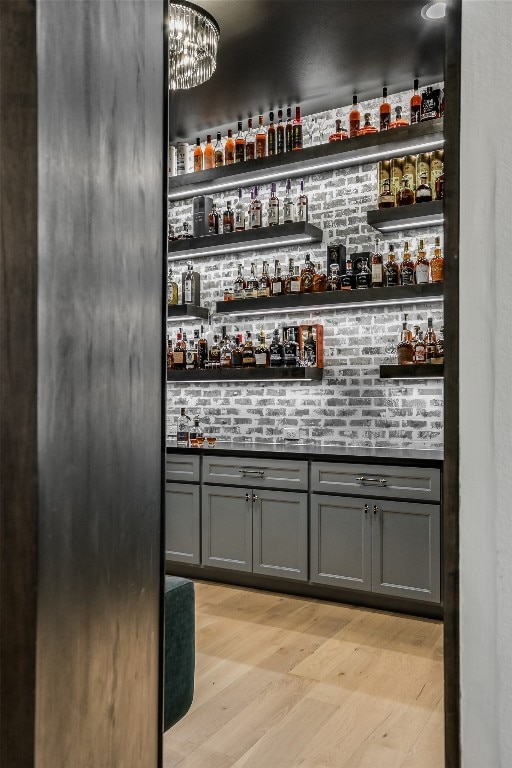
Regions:
<instances>
[{"instance_id":1,"label":"middle grey cabinet drawer above the central pair of doors","mask_svg":"<svg viewBox=\"0 0 512 768\"><path fill-rule=\"evenodd\" d=\"M307 491L308 464L284 459L205 456L203 482Z\"/></svg>"}]
</instances>

